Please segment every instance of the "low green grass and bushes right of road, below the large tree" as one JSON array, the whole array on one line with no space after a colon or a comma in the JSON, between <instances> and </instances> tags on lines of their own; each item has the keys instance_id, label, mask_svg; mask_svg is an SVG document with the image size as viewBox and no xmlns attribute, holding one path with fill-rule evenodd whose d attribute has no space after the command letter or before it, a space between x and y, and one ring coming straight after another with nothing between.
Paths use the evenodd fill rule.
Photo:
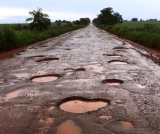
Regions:
<instances>
[{"instance_id":1,"label":"low green grass and bushes right of road, below the large tree","mask_svg":"<svg viewBox=\"0 0 160 134\"><path fill-rule=\"evenodd\" d=\"M136 28L122 27L120 25L96 25L98 28L103 29L112 34L132 40L144 46L160 50L160 34L155 32L153 28L146 29L146 26L141 30ZM158 29L157 29L158 30Z\"/></svg>"}]
</instances>

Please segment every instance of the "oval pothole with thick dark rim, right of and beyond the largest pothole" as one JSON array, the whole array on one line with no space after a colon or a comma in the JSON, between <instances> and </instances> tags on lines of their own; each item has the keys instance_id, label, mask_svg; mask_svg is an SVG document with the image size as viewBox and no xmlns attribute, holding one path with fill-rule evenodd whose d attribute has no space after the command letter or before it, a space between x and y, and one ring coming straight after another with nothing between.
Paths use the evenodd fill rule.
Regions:
<instances>
[{"instance_id":1,"label":"oval pothole with thick dark rim, right of and beyond the largest pothole","mask_svg":"<svg viewBox=\"0 0 160 134\"><path fill-rule=\"evenodd\" d=\"M120 84L123 84L124 82L118 79L106 79L106 80L103 80L102 83L106 85L120 85Z\"/></svg>"}]
</instances>

